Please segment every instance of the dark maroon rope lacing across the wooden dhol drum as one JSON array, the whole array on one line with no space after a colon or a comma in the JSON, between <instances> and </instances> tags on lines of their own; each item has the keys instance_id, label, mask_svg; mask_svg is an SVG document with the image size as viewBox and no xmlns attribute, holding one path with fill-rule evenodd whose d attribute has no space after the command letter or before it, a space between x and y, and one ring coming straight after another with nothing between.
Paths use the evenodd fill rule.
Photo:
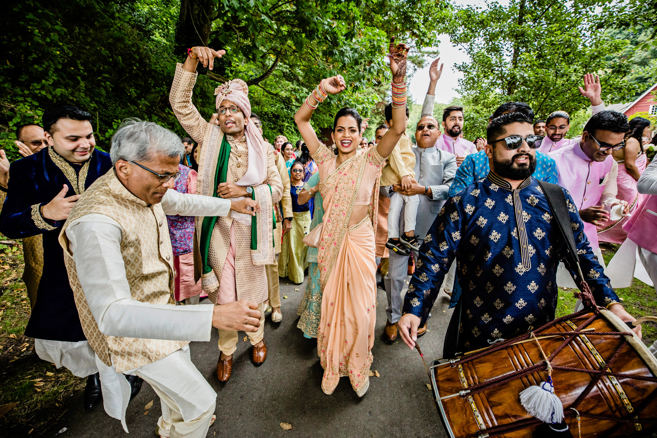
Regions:
<instances>
[{"instance_id":1,"label":"dark maroon rope lacing across the wooden dhol drum","mask_svg":"<svg viewBox=\"0 0 657 438\"><path fill-rule=\"evenodd\" d=\"M597 385L597 383L602 379L603 376L616 376L620 378L629 378L629 379L634 379L634 380L644 380L647 382L656 382L657 383L657 378L655 377L647 377L647 376L633 376L631 374L623 374L623 373L617 373L617 372L612 372L609 368L611 364L616 360L620 352L622 351L623 347L627 344L627 339L623 339L623 342L619 347L616 349L612 357L608 361L606 361L604 367L601 370L587 370L585 368L576 368L573 366L559 366L559 365L552 365L550 362L556 357L556 355L562 351L570 342L576 338L576 336L579 335L585 335L585 336L595 336L595 335L607 335L607 336L633 336L631 332L582 332L587 325L589 325L595 318L597 318L600 315L600 309L595 305L595 300L593 299L593 294L591 294L591 290L588 287L588 284L586 282L581 283L583 285L583 290L581 291L580 294L576 294L576 297L579 295L579 298L589 307L589 309L583 309L582 311L579 311L577 313L574 313L573 315L565 315L564 317L556 318L555 320L551 322L547 322L547 324L544 324L543 326L539 327L537 330L533 330L533 332L530 332L528 334L524 334L521 336L518 336L513 339L507 339L507 341L503 341L501 343L498 343L497 345L493 345L490 348L487 348L484 351L480 351L479 353L476 353L474 355L468 355L467 357L464 357L463 359L452 359L449 361L450 366L453 368L455 366L458 366L460 364L464 364L466 362L470 362L474 359L478 359L479 357L488 355L490 353L493 353L494 351L501 350L503 348L509 347L510 345L517 343L518 341L524 341L526 339L530 339L532 337L535 338L535 333L541 333L543 330L546 330L547 328L551 328L555 326L556 324L575 317L579 317L581 315L585 315L586 313L589 313L591 308L593 309L594 315L590 318L587 318L582 324L580 324L577 328L577 330L574 331L568 331L568 332L556 332L554 334L558 334L560 336L568 336L567 339L565 339L561 345L559 345L553 353L547 357L544 361L541 361L537 364L534 364L532 366L529 366L528 368L524 368L522 370L517 370L514 372L510 372L509 374L505 374L503 376L499 376L497 378L493 378L491 380L487 380L486 382L478 383L476 385L473 385L472 387L468 387L468 389L465 389L464 391L461 391L459 394L461 398L472 396L476 393L480 393L482 391L486 391L488 389L492 389L497 386L501 386L505 383L508 383L512 380L516 380L517 378L527 376L528 374L532 374L533 372L545 370L545 369L554 369L554 370L565 370L565 371L574 371L574 372L586 372L588 374L591 374L591 382L585 387L585 389L582 391L582 393L579 395L578 399L572 403L571 406L568 406L568 408L564 409L564 416L565 417L572 417L572 416L577 416L578 417L578 429L579 429L579 417L585 417L585 418L593 418L596 420L604 420L604 421L610 421L610 422L616 422L618 425L616 426L616 429L622 427L623 424L625 423L657 423L657 418L637 418L636 416L634 418L622 418L622 417L613 417L613 416L604 416L604 415L597 415L597 414L588 414L587 412L578 412L577 408L578 406L584 401L584 399L589 395L589 393L593 390L593 387ZM550 334L553 334L552 332ZM540 344L539 344L540 347ZM541 352L543 351L541 347ZM543 355L545 358L545 354ZM657 395L657 391L653 391L650 396L646 398L646 400L641 403L641 405L647 405L648 401L651 401L654 399L654 397ZM567 411L567 412L566 412ZM528 418L526 420L520 420L517 422L509 423L509 424L504 424L501 426L494 426L494 427L489 427L485 431L481 430L479 433L487 434L488 437L497 437L500 435L505 435L506 433L512 433L515 431L519 431L522 429L527 429L528 427L533 427L533 426L538 426L539 424L542 424L541 420L537 420L536 418Z\"/></svg>"}]
</instances>

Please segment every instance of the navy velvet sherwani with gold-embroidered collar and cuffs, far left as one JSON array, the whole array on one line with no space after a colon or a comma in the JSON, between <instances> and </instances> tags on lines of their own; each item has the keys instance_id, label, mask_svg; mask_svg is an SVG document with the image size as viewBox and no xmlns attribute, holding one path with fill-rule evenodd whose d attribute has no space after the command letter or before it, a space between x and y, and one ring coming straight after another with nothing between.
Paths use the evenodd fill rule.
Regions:
<instances>
[{"instance_id":1,"label":"navy velvet sherwani with gold-embroidered collar and cuffs, far left","mask_svg":"<svg viewBox=\"0 0 657 438\"><path fill-rule=\"evenodd\" d=\"M37 289L26 336L53 341L85 341L68 283L64 252L57 241L64 221L41 215L48 204L68 186L66 196L83 192L112 168L110 155L94 150L83 164L71 164L51 147L15 161L9 167L9 192L0 213L0 231L20 239L43 234L43 274Z\"/></svg>"}]
</instances>

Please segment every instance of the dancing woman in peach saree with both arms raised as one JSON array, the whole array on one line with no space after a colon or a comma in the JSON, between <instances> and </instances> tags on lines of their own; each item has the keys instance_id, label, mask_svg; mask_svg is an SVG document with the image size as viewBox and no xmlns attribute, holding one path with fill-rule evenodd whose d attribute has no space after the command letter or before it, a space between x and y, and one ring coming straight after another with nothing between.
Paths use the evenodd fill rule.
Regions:
<instances>
[{"instance_id":1,"label":"dancing woman in peach saree with both arms raised","mask_svg":"<svg viewBox=\"0 0 657 438\"><path fill-rule=\"evenodd\" d=\"M322 144L310 124L317 105L345 89L342 76L323 79L299 108L294 120L319 167L324 217L317 252L323 289L317 354L324 368L322 390L332 394L340 377L363 397L369 387L376 322L374 229L378 180L386 158L403 133L405 123L406 57L404 44L390 43L393 76L394 127L376 146L357 149L361 116L352 108L336 114L332 139L336 152Z\"/></svg>"}]
</instances>

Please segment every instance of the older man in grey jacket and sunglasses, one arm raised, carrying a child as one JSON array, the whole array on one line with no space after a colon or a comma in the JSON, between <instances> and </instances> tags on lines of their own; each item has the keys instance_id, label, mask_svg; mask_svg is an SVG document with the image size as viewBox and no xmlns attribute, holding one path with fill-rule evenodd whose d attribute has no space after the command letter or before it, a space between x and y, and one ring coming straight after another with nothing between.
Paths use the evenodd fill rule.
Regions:
<instances>
[{"instance_id":1,"label":"older man in grey jacket and sunglasses, one arm raised, carrying a child","mask_svg":"<svg viewBox=\"0 0 657 438\"><path fill-rule=\"evenodd\" d=\"M432 68L434 67L432 66ZM420 244L424 242L424 238L430 238L426 236L426 232L447 200L447 192L449 192L449 186L457 169L456 156L445 150L437 149L435 146L440 137L440 125L431 114L434 109L434 90L438 77L440 74L437 77L435 74L431 75L429 89L422 106L422 118L417 122L415 131L417 148L413 148L413 152L415 152L414 170L417 183L413 183L409 190L402 190L399 185L393 186L393 189L401 194L420 195L420 205L415 222L415 232L419 235ZM399 227L403 231L403 211ZM388 341L394 341L397 338L397 321L401 318L401 306L403 305L401 290L408 275L408 259L409 255L390 252L390 266L388 274L384 278L388 297L388 307L386 307L388 320L386 320L384 328L384 339ZM417 334L421 336L424 332L426 332L426 324L418 329Z\"/></svg>"}]
</instances>

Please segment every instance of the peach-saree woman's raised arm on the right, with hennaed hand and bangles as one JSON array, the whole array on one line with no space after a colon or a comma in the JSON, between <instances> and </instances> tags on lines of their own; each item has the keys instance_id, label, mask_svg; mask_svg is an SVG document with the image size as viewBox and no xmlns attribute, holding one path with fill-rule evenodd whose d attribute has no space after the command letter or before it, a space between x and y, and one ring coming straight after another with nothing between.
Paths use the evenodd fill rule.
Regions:
<instances>
[{"instance_id":1,"label":"peach-saree woman's raised arm on the right, with hennaed hand and bangles","mask_svg":"<svg viewBox=\"0 0 657 438\"><path fill-rule=\"evenodd\" d=\"M392 127L388 129L376 146L376 151L383 158L388 158L397 145L397 141L406 131L406 58L409 47L405 44L395 45L390 40L390 71L392 72Z\"/></svg>"}]
</instances>

